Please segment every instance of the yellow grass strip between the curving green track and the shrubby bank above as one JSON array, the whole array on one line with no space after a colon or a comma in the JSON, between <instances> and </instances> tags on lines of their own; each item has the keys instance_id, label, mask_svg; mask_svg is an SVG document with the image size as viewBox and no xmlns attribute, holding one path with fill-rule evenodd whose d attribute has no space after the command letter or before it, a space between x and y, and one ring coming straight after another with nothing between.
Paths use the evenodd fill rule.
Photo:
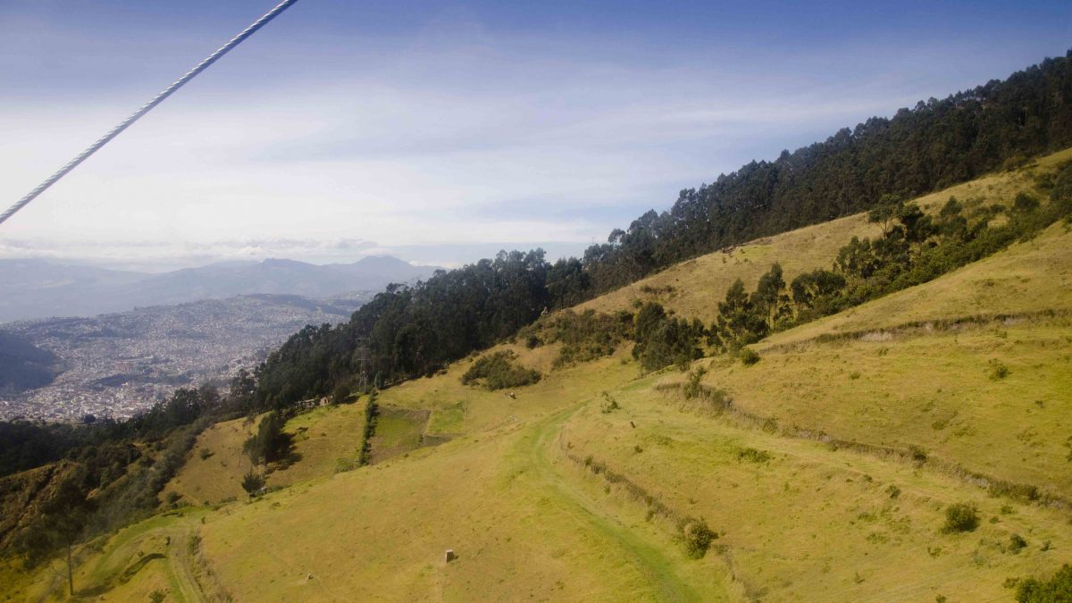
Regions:
<instances>
[{"instance_id":1,"label":"yellow grass strip between the curving green track and the shrubby bank above","mask_svg":"<svg viewBox=\"0 0 1072 603\"><path fill-rule=\"evenodd\" d=\"M650 385L614 392L622 410L611 414L587 406L562 439L574 455L591 455L679 513L703 517L720 533L709 555L732 573L744 599L1006 599L1006 577L1052 572L1067 555L1054 550L1072 546L1063 512L991 498L910 464L741 429L682 410L683 399ZM742 458L745 448L770 459ZM594 486L606 483L578 473ZM621 487L607 498L637 515L645 509ZM965 501L979 505L982 526L943 534L943 506ZM1013 533L1029 542L1018 555L1002 550ZM1047 541L1052 549L1041 550Z\"/></svg>"}]
</instances>

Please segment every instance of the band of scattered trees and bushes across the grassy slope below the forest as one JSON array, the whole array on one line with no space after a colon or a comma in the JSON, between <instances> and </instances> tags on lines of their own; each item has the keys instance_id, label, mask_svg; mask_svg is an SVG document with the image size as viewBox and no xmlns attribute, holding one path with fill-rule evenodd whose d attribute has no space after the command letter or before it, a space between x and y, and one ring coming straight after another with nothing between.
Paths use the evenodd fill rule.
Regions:
<instances>
[{"instance_id":1,"label":"band of scattered trees and bushes across the grassy slope below the forest","mask_svg":"<svg viewBox=\"0 0 1072 603\"><path fill-rule=\"evenodd\" d=\"M1048 203L1021 192L1008 206L968 210L951 196L936 216L897 195L883 195L867 216L880 226L880 236L852 237L830 268L801 274L791 282L786 282L779 264L773 264L751 292L738 279L718 303L718 317L710 326L674 318L659 304L643 304L635 319L632 355L645 370L670 365L684 369L704 351L758 362L746 345L772 333L927 282L1030 239L1059 220L1072 221L1072 163L1055 179L1040 181L1039 189L1049 196Z\"/></svg>"}]
</instances>

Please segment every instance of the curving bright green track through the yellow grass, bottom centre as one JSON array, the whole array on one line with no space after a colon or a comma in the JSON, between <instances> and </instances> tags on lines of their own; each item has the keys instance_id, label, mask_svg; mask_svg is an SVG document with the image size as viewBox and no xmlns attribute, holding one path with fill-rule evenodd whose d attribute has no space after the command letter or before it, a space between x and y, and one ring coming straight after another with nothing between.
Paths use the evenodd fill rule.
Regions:
<instances>
[{"instance_id":1,"label":"curving bright green track through the yellow grass, bottom centre","mask_svg":"<svg viewBox=\"0 0 1072 603\"><path fill-rule=\"evenodd\" d=\"M656 545L647 542L643 534L630 530L614 517L608 515L583 490L572 484L564 475L561 468L555 467L549 455L555 437L563 424L578 408L563 411L534 425L521 440L522 458L533 470L548 490L565 503L564 510L582 526L592 530L617 545L619 549L629 558L647 579L653 588L653 594L660 601L701 601L711 600L701 597L691 585L674 571L674 561L668 559ZM723 597L723 599L726 599Z\"/></svg>"}]
</instances>

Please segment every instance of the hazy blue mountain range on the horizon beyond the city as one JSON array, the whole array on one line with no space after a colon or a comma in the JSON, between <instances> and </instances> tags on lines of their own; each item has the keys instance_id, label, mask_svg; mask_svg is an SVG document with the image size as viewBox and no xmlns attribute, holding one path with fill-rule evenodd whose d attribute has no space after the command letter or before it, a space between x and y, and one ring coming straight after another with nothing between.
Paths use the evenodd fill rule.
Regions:
<instances>
[{"instance_id":1,"label":"hazy blue mountain range on the horizon beyond the city","mask_svg":"<svg viewBox=\"0 0 1072 603\"><path fill-rule=\"evenodd\" d=\"M391 256L317 266L293 260L225 262L164 274L109 270L44 260L0 260L0 323L91 317L137 307L281 294L317 299L379 291L428 278L435 267Z\"/></svg>"}]
</instances>

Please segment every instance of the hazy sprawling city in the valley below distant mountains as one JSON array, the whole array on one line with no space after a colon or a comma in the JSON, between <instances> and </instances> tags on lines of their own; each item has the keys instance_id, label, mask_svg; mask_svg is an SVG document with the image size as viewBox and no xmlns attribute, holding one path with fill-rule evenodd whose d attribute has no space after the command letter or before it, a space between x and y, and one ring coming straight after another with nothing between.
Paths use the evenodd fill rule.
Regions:
<instances>
[{"instance_id":1,"label":"hazy sprawling city in the valley below distant mountains","mask_svg":"<svg viewBox=\"0 0 1072 603\"><path fill-rule=\"evenodd\" d=\"M55 356L55 377L42 387L0 392L0 420L123 418L178 387L224 386L291 334L307 324L343 322L367 297L314 302L243 295L95 318L11 323L4 330Z\"/></svg>"}]
</instances>

